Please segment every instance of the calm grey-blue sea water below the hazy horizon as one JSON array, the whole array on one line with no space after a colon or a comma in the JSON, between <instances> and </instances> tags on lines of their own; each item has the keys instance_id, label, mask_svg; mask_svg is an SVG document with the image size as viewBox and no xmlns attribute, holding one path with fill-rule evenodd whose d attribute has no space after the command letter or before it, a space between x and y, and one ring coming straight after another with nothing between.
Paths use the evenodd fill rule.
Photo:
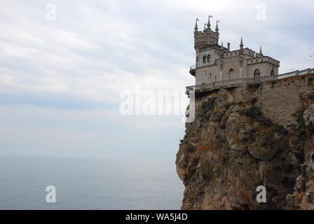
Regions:
<instances>
[{"instance_id":1,"label":"calm grey-blue sea water below the hazy horizon","mask_svg":"<svg viewBox=\"0 0 314 224\"><path fill-rule=\"evenodd\" d=\"M175 162L0 156L0 209L180 209L183 190Z\"/></svg>"}]
</instances>

